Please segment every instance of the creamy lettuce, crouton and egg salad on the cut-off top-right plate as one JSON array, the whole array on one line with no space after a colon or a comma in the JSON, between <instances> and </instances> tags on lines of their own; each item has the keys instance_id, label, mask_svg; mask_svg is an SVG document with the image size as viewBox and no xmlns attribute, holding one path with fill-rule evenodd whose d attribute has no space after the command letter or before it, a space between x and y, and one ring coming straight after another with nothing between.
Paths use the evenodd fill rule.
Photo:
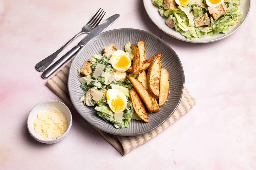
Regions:
<instances>
[{"instance_id":1,"label":"creamy lettuce, crouton and egg salad on the cut-off top-right plate","mask_svg":"<svg viewBox=\"0 0 256 170\"><path fill-rule=\"evenodd\" d=\"M188 40L227 33L243 12L238 8L244 0L152 0L166 17L166 25L175 28Z\"/></svg>"}]
</instances>

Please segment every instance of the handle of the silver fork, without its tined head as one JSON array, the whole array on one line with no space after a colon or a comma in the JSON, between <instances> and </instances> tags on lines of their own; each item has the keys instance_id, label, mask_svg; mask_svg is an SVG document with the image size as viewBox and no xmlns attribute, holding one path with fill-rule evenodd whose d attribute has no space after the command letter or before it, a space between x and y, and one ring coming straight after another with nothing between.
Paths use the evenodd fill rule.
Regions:
<instances>
[{"instance_id":1,"label":"handle of the silver fork, without its tined head","mask_svg":"<svg viewBox=\"0 0 256 170\"><path fill-rule=\"evenodd\" d=\"M60 49L58 49L55 53L53 53L52 55L46 57L44 60L40 61L39 63L36 64L36 70L42 72L44 70L46 70L51 64L52 62L55 60L55 58L60 54L60 52L67 47L67 45L73 41L76 37L78 37L79 35L86 33L81 31L80 33L76 34L71 40L69 40L64 46L62 46Z\"/></svg>"}]
</instances>

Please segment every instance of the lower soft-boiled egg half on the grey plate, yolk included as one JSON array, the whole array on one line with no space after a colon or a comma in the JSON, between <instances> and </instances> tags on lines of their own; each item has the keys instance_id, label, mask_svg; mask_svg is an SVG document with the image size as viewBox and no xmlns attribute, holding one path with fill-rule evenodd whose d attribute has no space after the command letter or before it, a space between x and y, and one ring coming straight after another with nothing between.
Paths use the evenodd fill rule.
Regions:
<instances>
[{"instance_id":1,"label":"lower soft-boiled egg half on the grey plate, yolk included","mask_svg":"<svg viewBox=\"0 0 256 170\"><path fill-rule=\"evenodd\" d=\"M127 107L127 99L124 93L118 89L108 89L106 98L108 106L115 113L122 112Z\"/></svg>"}]
</instances>

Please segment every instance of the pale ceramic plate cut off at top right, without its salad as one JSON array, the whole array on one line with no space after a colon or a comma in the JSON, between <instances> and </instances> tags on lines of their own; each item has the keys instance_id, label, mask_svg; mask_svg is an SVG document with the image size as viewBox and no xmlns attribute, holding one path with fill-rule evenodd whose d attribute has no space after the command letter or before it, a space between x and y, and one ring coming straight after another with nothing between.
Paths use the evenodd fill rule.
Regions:
<instances>
[{"instance_id":1,"label":"pale ceramic plate cut off at top right, without its salad","mask_svg":"<svg viewBox=\"0 0 256 170\"><path fill-rule=\"evenodd\" d=\"M185 37L183 37L182 35L180 35L179 32L175 31L175 29L169 28L166 24L166 18L162 17L159 14L158 11L158 7L155 6L154 4L152 4L152 0L143 0L144 3L144 7L148 13L149 18L153 21L153 23L159 28L161 29L164 33L178 39L178 40L182 40L182 41L187 41L187 42L193 42L193 43L206 43L206 42L213 42L213 41L218 41L218 40L222 40L223 38L228 37L229 35L231 35L232 33L234 33L238 28L240 28L240 26L242 26L242 24L244 23L244 21L246 20L249 11L250 11L250 6L251 6L251 0L244 0L243 4L239 5L239 9L241 11L243 11L243 15L241 17L244 18L243 21L236 23L236 25L234 27L232 27L228 33L223 34L223 33L219 33L217 35L214 36L204 36L202 38L195 38L193 40L187 40Z\"/></svg>"}]
</instances>

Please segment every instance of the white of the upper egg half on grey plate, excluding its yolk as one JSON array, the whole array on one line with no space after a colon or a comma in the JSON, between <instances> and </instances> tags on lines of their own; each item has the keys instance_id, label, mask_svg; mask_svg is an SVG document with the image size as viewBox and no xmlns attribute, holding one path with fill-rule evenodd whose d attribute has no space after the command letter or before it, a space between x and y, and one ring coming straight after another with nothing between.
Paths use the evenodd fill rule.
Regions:
<instances>
[{"instance_id":1,"label":"white of the upper egg half on grey plate, excluding its yolk","mask_svg":"<svg viewBox=\"0 0 256 170\"><path fill-rule=\"evenodd\" d=\"M128 59L128 62L129 62L129 64L124 68L119 68L116 65L116 63L120 60L121 56L126 57ZM112 65L113 69L116 70L116 71L119 71L119 72L125 72L126 70L128 70L131 67L131 64L132 64L129 55L127 53L125 53L124 51L122 51L122 50L117 50L112 54L111 59L110 59L110 63Z\"/></svg>"}]
</instances>

